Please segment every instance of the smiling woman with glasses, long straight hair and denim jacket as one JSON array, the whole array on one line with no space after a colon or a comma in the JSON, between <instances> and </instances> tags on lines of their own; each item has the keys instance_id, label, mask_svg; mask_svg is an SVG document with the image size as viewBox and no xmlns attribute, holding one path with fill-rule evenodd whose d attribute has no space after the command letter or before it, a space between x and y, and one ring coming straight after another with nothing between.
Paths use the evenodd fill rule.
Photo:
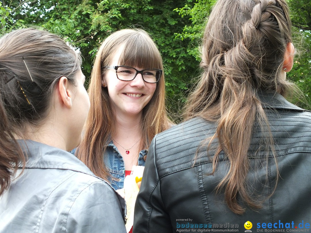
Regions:
<instances>
[{"instance_id":1,"label":"smiling woman with glasses, long straight hair and denim jacket","mask_svg":"<svg viewBox=\"0 0 311 233\"><path fill-rule=\"evenodd\" d=\"M163 64L156 44L139 29L107 37L89 86L91 109L77 157L115 190L134 165L144 166L152 138L168 129Z\"/></svg>"}]
</instances>

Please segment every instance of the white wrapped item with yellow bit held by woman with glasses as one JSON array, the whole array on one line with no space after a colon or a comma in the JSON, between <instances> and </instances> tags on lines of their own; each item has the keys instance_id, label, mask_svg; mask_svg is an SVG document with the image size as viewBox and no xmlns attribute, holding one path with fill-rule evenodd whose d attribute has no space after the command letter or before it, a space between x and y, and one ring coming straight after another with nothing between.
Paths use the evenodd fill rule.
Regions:
<instances>
[{"instance_id":1,"label":"white wrapped item with yellow bit held by woman with glasses","mask_svg":"<svg viewBox=\"0 0 311 233\"><path fill-rule=\"evenodd\" d=\"M125 224L127 232L133 226L135 201L142 181L143 171L143 166L133 166L131 175L126 176L124 179L124 193L128 215L128 220Z\"/></svg>"}]
</instances>

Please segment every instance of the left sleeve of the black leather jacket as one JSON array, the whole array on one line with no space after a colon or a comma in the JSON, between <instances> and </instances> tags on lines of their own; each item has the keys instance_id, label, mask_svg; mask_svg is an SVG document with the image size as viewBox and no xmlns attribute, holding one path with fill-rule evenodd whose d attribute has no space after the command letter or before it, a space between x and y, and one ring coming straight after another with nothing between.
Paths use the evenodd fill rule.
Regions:
<instances>
[{"instance_id":1,"label":"left sleeve of the black leather jacket","mask_svg":"<svg viewBox=\"0 0 311 233\"><path fill-rule=\"evenodd\" d=\"M151 142L137 195L133 232L173 232L161 197L161 180L156 167L156 136ZM144 179L148 177L148 179Z\"/></svg>"}]
</instances>

